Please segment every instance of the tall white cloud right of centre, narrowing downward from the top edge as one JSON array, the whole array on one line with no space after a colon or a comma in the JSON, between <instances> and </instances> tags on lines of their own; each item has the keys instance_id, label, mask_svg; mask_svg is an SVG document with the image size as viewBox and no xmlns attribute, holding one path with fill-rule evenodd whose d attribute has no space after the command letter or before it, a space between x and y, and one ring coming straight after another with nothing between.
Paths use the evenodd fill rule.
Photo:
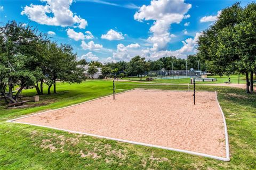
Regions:
<instances>
[{"instance_id":1,"label":"tall white cloud right of centre, narrowing downward from the top edge","mask_svg":"<svg viewBox=\"0 0 256 170\"><path fill-rule=\"evenodd\" d=\"M150 28L153 35L148 38L148 41L154 45L153 48L157 47L156 50L161 50L166 48L167 43L171 40L170 25L189 18L190 15L185 14L190 8L191 4L184 3L183 0L151 1L150 5L140 7L140 10L134 14L134 19L138 21L155 20Z\"/></svg>"}]
</instances>

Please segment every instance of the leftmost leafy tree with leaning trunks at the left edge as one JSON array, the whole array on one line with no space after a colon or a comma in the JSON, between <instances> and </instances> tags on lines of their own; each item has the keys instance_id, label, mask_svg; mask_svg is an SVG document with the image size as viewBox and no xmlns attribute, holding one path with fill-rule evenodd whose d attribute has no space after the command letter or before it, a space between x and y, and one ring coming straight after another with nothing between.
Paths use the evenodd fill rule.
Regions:
<instances>
[{"instance_id":1,"label":"leftmost leafy tree with leaning trunks at the left edge","mask_svg":"<svg viewBox=\"0 0 256 170\"><path fill-rule=\"evenodd\" d=\"M38 70L31 63L35 61L35 47L42 39L41 33L32 27L23 27L22 23L12 21L0 27L0 90L10 103L17 103L24 87L34 86ZM13 96L15 86L19 86L19 90Z\"/></svg>"}]
</instances>

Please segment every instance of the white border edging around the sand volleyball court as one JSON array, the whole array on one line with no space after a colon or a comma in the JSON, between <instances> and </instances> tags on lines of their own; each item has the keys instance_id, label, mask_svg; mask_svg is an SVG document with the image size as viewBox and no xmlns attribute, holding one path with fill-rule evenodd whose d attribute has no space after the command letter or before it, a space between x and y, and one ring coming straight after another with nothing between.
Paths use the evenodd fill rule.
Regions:
<instances>
[{"instance_id":1,"label":"white border edging around the sand volleyball court","mask_svg":"<svg viewBox=\"0 0 256 170\"><path fill-rule=\"evenodd\" d=\"M132 90L135 90L135 89L137 89L137 88L134 88L134 89L131 89L131 90L127 90L127 91L132 91ZM140 88L138 88L138 89L140 89ZM150 90L150 89L147 89L147 90ZM155 89L155 90L157 90L157 89ZM117 94L122 94L122 93L127 92L127 91L119 92L119 93L117 93ZM170 91L170 90L169 90L169 91ZM179 91L179 90L172 90L172 91ZM180 90L180 91L185 91L185 90ZM206 91L205 91L205 92L206 92ZM208 92L213 92L213 91L208 91ZM83 103L79 103L79 104L75 104L75 105L71 105L71 106L67 106L67 107L62 107L62 108L58 108L58 109L53 109L53 110L50 110L50 111L45 111L45 112L41 112L41 113L37 113L37 114L31 114L31 115L28 115L28 116L23 116L23 117L19 117L19 118L14 118L14 119L9 120L9 121L6 121L6 122L9 122L9 123L19 123L19 124L27 124L27 125L34 125L34 126L39 126L39 127L43 127L43 128L50 128L50 129L55 129L55 130L61 130L61 131L71 132L71 133L85 134L85 135L89 135L89 136L97 137L97 138L104 138L104 139L115 140L115 141L119 141L119 142L132 143L132 144L135 144L135 145L141 145L141 146L147 146L147 147L154 147L154 148L160 148L160 149L178 151L178 152L183 152L183 153L186 153L186 154L197 155L197 156L203 156L203 157L207 157L207 158L213 158L213 159L217 159L217 160L222 160L222 161L225 161L225 162L229 162L230 157L229 157L229 144L228 144L228 132L227 132L226 120L225 120L225 116L224 116L224 114L223 114L223 112L222 112L222 109L221 109L221 107L220 107L220 104L219 104L219 101L218 101L218 98L217 98L217 91L215 91L215 95L216 95L216 99L217 99L218 106L219 106L220 111L221 111L221 114L222 114L223 123L224 123L224 128L225 128L226 158L218 157L218 156L213 156L213 155L208 155L208 154L202 154L202 153L194 152L194 151L188 151L188 150L182 150L182 149L175 149L175 148L169 148L169 147L162 147L162 146L157 146L157 145L151 145L151 144L148 144L148 143L141 143L141 142L135 142L135 141L129 141L129 140L123 140L123 139L117 139L117 138L110 138L110 137L105 137L105 136L97 135L97 134L91 134L91 133L84 133L84 132L78 132L78 131L71 131L71 130L66 130L66 129L54 128L54 127L51 127L51 126L38 125L38 124L33 124L33 123L14 122L14 121L19 120L19 119L22 119L22 118L26 118L26 117L30 117L30 116L34 116L34 115L39 115L39 114L43 114L43 113L47 113L47 112L51 112L51 111L57 111L57 110L59 110L59 109L68 108L68 107L72 107L72 106L76 106L76 105L81 105L81 104L84 104L84 103L87 103L87 102L90 102L90 101L93 101L93 100L98 100L98 99L110 97L110 96L112 96L112 95L108 95L108 96L104 96L104 97L99 97L99 98L96 98L96 99L92 99L92 100L85 101L85 102L83 102Z\"/></svg>"}]
</instances>

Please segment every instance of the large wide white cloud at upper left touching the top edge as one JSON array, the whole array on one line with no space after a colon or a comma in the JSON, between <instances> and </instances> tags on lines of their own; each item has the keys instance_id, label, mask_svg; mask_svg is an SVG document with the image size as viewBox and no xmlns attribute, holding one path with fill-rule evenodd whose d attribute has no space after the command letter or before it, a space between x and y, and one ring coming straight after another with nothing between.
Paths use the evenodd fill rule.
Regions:
<instances>
[{"instance_id":1,"label":"large wide white cloud at upper left touching the top edge","mask_svg":"<svg viewBox=\"0 0 256 170\"><path fill-rule=\"evenodd\" d=\"M73 0L41 0L45 5L25 6L21 15L27 15L31 21L39 24L56 25L61 27L74 26L84 29L87 21L75 15L70 10Z\"/></svg>"}]
</instances>

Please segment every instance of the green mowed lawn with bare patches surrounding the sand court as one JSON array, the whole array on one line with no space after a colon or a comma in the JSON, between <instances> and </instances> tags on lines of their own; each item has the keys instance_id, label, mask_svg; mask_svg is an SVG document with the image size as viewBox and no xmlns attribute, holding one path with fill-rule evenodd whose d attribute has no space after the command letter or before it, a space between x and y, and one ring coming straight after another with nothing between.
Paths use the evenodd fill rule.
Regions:
<instances>
[{"instance_id":1,"label":"green mowed lawn with bare patches surrounding the sand court","mask_svg":"<svg viewBox=\"0 0 256 170\"><path fill-rule=\"evenodd\" d=\"M116 87L187 89L178 85L134 84L118 82ZM41 101L31 102L27 108L6 109L1 103L0 169L256 169L256 95L245 94L243 89L197 87L197 90L218 91L228 126L230 162L6 122L22 115L111 95L112 88L113 82L106 80L71 85L58 83L58 94L42 95ZM35 89L24 90L22 95L33 96Z\"/></svg>"}]
</instances>

